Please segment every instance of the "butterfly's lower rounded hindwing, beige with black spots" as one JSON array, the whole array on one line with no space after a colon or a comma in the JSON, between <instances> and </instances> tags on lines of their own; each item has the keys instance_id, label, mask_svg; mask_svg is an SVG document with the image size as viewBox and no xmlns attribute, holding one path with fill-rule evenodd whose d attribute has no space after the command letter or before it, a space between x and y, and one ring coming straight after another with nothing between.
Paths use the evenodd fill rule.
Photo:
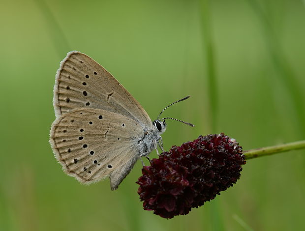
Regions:
<instances>
[{"instance_id":1,"label":"butterfly's lower rounded hindwing, beige with black spots","mask_svg":"<svg viewBox=\"0 0 305 231\"><path fill-rule=\"evenodd\" d=\"M86 184L110 175L114 190L139 158L143 135L141 125L124 115L79 108L54 121L50 143L65 173Z\"/></svg>"}]
</instances>

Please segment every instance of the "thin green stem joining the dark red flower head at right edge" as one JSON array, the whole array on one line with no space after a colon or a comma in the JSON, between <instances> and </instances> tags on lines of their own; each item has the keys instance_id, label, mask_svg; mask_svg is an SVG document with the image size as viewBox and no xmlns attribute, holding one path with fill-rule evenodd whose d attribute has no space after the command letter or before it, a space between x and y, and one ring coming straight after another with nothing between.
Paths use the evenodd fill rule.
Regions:
<instances>
[{"instance_id":1,"label":"thin green stem joining the dark red flower head at right edge","mask_svg":"<svg viewBox=\"0 0 305 231\"><path fill-rule=\"evenodd\" d=\"M305 141L297 141L288 144L279 144L270 147L260 147L256 149L251 149L244 151L244 156L246 160L253 159L260 156L269 156L276 153L290 151L295 149L305 148Z\"/></svg>"}]
</instances>

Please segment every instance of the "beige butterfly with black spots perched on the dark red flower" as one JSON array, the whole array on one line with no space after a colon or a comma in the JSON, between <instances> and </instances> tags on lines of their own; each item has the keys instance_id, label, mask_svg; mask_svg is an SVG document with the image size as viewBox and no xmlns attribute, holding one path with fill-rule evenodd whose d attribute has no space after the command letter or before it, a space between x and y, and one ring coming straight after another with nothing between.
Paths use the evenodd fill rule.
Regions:
<instances>
[{"instance_id":1,"label":"beige butterfly with black spots perched on the dark red flower","mask_svg":"<svg viewBox=\"0 0 305 231\"><path fill-rule=\"evenodd\" d=\"M63 171L81 183L109 176L115 190L138 159L144 165L141 157L148 158L154 149L158 154L158 146L164 151L160 135L170 117L159 116L165 109L152 121L105 68L83 53L69 52L61 61L53 106L51 147Z\"/></svg>"}]
</instances>

